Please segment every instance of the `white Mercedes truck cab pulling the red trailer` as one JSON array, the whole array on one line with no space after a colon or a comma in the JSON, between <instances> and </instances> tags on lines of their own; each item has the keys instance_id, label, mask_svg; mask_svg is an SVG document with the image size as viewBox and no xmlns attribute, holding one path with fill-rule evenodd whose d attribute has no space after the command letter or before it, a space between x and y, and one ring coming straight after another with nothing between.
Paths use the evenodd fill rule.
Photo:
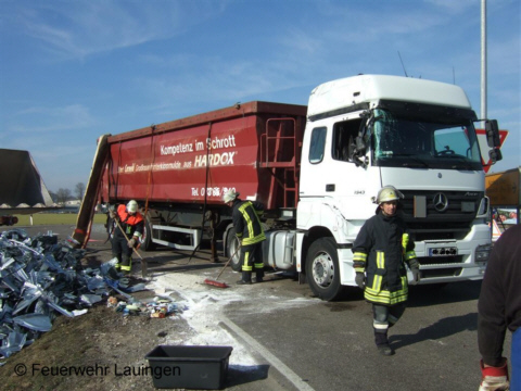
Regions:
<instances>
[{"instance_id":1,"label":"white Mercedes truck cab pulling the red trailer","mask_svg":"<svg viewBox=\"0 0 521 391\"><path fill-rule=\"evenodd\" d=\"M332 300L342 286L355 285L352 245L385 185L405 195L402 217L421 283L483 277L491 229L476 121L465 91L444 83L359 75L312 91L296 267L318 297ZM497 123L487 130L499 160Z\"/></svg>"}]
</instances>

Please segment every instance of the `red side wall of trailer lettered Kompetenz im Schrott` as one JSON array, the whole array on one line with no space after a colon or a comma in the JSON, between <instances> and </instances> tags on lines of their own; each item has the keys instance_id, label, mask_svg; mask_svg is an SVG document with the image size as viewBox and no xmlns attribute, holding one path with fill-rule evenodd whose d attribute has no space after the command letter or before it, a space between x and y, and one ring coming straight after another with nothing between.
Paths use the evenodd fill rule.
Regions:
<instances>
[{"instance_id":1,"label":"red side wall of trailer lettered Kompetenz im Schrott","mask_svg":"<svg viewBox=\"0 0 521 391\"><path fill-rule=\"evenodd\" d=\"M271 175L259 164L266 119L305 113L305 106L250 102L112 136L105 198L106 181L110 200L171 203L202 203L205 193L208 203L220 203L223 193L234 188L242 199L275 207Z\"/></svg>"}]
</instances>

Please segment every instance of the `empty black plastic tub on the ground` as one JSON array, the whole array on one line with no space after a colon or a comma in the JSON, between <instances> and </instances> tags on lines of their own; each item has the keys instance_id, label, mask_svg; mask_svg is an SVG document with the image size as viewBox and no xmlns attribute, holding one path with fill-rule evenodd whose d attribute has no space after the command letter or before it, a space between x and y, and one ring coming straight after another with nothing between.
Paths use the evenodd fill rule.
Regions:
<instances>
[{"instance_id":1,"label":"empty black plastic tub on the ground","mask_svg":"<svg viewBox=\"0 0 521 391\"><path fill-rule=\"evenodd\" d=\"M158 345L144 356L154 387L219 390L224 388L232 346Z\"/></svg>"}]
</instances>

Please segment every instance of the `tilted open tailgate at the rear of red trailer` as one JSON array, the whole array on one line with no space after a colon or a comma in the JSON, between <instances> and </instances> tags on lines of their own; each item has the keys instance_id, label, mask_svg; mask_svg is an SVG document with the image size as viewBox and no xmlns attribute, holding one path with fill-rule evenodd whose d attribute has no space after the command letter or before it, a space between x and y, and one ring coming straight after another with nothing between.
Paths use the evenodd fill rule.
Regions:
<instances>
[{"instance_id":1,"label":"tilted open tailgate at the rear of red trailer","mask_svg":"<svg viewBox=\"0 0 521 391\"><path fill-rule=\"evenodd\" d=\"M111 135L103 135L98 139L98 148L90 171L89 181L85 190L84 201L79 207L76 228L73 232L73 239L77 241L76 245L82 249L85 249L89 241L90 230L92 228L92 217L94 215L98 193L100 191L101 177L109 156L107 139Z\"/></svg>"}]
</instances>

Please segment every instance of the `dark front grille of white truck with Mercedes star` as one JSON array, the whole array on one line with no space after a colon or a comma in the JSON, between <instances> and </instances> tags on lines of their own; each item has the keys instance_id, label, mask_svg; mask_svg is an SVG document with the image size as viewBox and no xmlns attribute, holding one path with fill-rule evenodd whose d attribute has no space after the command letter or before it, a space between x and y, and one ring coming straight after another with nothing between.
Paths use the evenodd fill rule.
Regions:
<instances>
[{"instance_id":1,"label":"dark front grille of white truck with Mercedes star","mask_svg":"<svg viewBox=\"0 0 521 391\"><path fill-rule=\"evenodd\" d=\"M416 241L463 239L471 229L484 195L478 191L402 192L403 218ZM425 197L425 217L415 217L415 195Z\"/></svg>"}]
</instances>

